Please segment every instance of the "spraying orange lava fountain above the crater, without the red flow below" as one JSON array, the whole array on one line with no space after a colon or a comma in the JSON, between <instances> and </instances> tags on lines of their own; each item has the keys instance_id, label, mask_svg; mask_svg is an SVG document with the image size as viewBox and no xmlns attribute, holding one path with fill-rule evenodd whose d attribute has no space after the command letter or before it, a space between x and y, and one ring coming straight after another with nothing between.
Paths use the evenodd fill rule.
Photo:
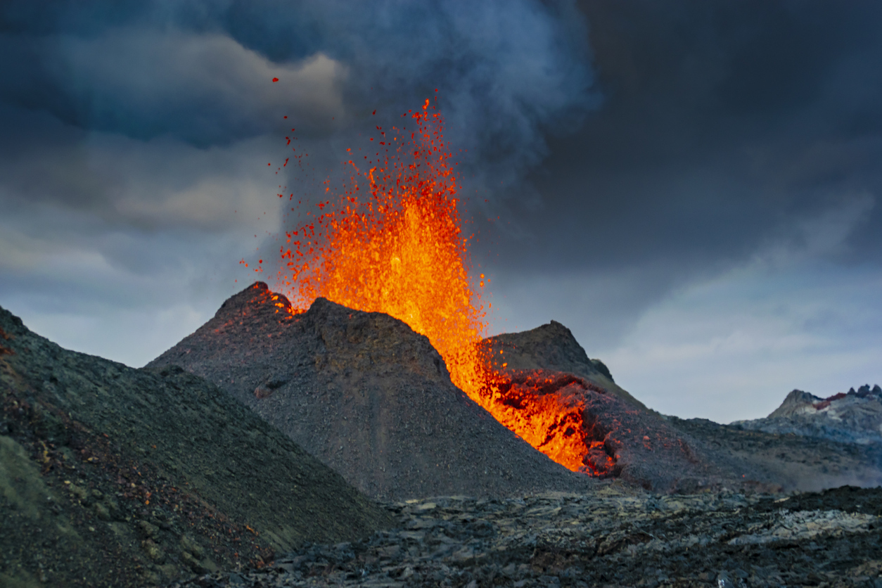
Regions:
<instances>
[{"instance_id":1,"label":"spraying orange lava fountain above the crater, without the red flow below","mask_svg":"<svg viewBox=\"0 0 882 588\"><path fill-rule=\"evenodd\" d=\"M429 338L453 383L474 392L483 381L477 344L486 313L469 283L460 187L434 109L426 100L408 116L409 130L392 127L391 141L377 127L377 160L345 162L347 189L287 234L281 281L295 288L290 298L300 309L324 296L399 318Z\"/></svg>"}]
</instances>

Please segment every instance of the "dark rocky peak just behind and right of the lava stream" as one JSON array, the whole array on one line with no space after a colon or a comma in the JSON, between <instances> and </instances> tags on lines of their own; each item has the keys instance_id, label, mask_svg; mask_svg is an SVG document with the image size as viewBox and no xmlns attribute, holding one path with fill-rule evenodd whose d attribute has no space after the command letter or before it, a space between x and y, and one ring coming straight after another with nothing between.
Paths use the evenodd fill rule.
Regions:
<instances>
[{"instance_id":1,"label":"dark rocky peak just behind and right of the lava stream","mask_svg":"<svg viewBox=\"0 0 882 588\"><path fill-rule=\"evenodd\" d=\"M609 368L602 361L588 359L572 331L557 321L530 331L502 333L484 341L490 346L492 364L498 370L545 369L575 374L632 406L647 408L613 382Z\"/></svg>"}]
</instances>

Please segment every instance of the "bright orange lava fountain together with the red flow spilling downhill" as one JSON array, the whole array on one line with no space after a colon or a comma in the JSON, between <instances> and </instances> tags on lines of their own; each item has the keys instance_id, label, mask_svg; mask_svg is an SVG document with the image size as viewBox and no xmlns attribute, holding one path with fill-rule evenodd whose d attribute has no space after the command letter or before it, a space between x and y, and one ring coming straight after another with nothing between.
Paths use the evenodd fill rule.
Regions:
<instances>
[{"instance_id":1,"label":"bright orange lava fountain together with the red flow spilling downhill","mask_svg":"<svg viewBox=\"0 0 882 588\"><path fill-rule=\"evenodd\" d=\"M280 289L295 313L324 297L400 319L429 338L452 382L505 427L572 471L608 473L612 460L602 439L589 438L584 402L572 383L514 382L490 367L481 303L489 280L480 274L475 288L469 279L460 185L436 110L427 99L402 115L410 130L402 124L387 135L377 126L370 138L375 159L345 162L348 186L286 233Z\"/></svg>"}]
</instances>

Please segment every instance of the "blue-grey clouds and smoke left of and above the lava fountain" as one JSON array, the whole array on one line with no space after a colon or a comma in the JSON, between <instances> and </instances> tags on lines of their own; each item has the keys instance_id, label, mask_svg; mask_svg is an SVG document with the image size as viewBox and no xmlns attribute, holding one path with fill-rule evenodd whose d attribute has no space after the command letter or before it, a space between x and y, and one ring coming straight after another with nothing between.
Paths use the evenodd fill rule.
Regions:
<instances>
[{"instance_id":1,"label":"blue-grey clouds and smoke left of and above the lava fountain","mask_svg":"<svg viewBox=\"0 0 882 588\"><path fill-rule=\"evenodd\" d=\"M545 130L593 108L570 2L11 0L0 52L0 295L61 344L134 364L164 348L144 330L169 323L163 304L188 317L171 344L254 277L237 262L280 226L290 166L266 162L290 127L320 182L437 88L466 174L512 183ZM151 342L108 353L136 330Z\"/></svg>"}]
</instances>

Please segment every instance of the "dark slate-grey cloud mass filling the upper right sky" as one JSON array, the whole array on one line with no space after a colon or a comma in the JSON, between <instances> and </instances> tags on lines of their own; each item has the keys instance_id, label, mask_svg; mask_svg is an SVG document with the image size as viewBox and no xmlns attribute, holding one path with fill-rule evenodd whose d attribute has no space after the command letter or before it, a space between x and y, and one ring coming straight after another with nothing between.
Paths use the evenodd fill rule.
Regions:
<instances>
[{"instance_id":1,"label":"dark slate-grey cloud mass filling the upper right sky","mask_svg":"<svg viewBox=\"0 0 882 588\"><path fill-rule=\"evenodd\" d=\"M878 198L878 4L580 6L604 102L549 140L529 177L541 205L498 205L516 226L499 229L505 271L674 262L688 276ZM825 255L878 259L880 211L864 206Z\"/></svg>"}]
</instances>

